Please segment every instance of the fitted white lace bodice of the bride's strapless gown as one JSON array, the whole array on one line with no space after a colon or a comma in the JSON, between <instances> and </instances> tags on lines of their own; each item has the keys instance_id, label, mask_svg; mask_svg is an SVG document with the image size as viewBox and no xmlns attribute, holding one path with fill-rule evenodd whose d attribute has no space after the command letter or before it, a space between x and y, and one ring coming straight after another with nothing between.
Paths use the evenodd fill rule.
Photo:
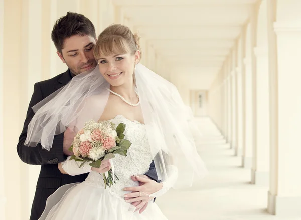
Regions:
<instances>
[{"instance_id":1,"label":"fitted white lace bodice of the bride's strapless gown","mask_svg":"<svg viewBox=\"0 0 301 220\"><path fill-rule=\"evenodd\" d=\"M115 123L116 126L119 123L124 123L126 125L124 138L132 143L126 157L116 154L116 157L111 159L114 164L115 174L119 180L111 188L107 187L107 189L112 194L123 196L128 193L122 190L124 187L138 186L137 182L131 180L131 176L146 173L153 158L143 124L138 121L130 121L121 115L117 115L110 121ZM92 171L83 184L104 188L103 175Z\"/></svg>"}]
</instances>

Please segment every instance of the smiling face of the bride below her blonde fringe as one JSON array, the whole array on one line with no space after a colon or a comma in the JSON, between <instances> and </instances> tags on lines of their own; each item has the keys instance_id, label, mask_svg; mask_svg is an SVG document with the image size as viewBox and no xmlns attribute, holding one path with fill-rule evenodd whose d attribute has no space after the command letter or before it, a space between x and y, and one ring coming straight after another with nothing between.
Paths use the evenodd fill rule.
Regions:
<instances>
[{"instance_id":1,"label":"smiling face of the bride below her blonde fringe","mask_svg":"<svg viewBox=\"0 0 301 220\"><path fill-rule=\"evenodd\" d=\"M139 58L139 51L136 51L134 55L126 53L102 56L98 60L99 71L114 87L129 84L133 82L134 66Z\"/></svg>"}]
</instances>

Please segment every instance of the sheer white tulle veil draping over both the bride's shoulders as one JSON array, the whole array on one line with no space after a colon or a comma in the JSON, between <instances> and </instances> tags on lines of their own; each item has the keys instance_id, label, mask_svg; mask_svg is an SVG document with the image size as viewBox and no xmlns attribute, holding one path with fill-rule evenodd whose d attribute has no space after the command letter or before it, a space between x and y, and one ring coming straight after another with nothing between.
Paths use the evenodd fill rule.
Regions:
<instances>
[{"instance_id":1,"label":"sheer white tulle veil draping over both the bride's shoulders","mask_svg":"<svg viewBox=\"0 0 301 220\"><path fill-rule=\"evenodd\" d=\"M159 179L168 178L166 167L174 165L179 174L174 188L191 186L194 178L207 173L191 132L192 126L197 130L193 115L169 81L142 64L136 65L134 77ZM77 133L86 121L98 121L109 98L108 88L98 66L75 76L33 107L35 115L25 144L35 147L41 143L50 150L54 136L66 128Z\"/></svg>"}]
</instances>

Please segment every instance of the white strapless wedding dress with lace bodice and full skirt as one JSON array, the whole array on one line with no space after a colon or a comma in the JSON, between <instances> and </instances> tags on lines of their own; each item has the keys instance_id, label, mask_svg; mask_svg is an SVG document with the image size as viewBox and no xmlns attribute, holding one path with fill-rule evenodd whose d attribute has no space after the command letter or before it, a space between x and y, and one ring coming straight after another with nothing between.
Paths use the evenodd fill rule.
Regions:
<instances>
[{"instance_id":1,"label":"white strapless wedding dress with lace bodice and full skirt","mask_svg":"<svg viewBox=\"0 0 301 220\"><path fill-rule=\"evenodd\" d=\"M92 171L84 182L64 185L51 195L47 199L46 208L39 219L167 219L153 200L149 201L147 208L141 214L138 211L134 212L135 207L124 200L124 194L129 192L122 189L138 186L138 182L132 181L131 176L146 173L153 160L145 125L138 121L130 121L121 115L117 115L109 121L116 125L124 123L126 125L125 139L132 143L126 157L116 154L116 157L111 159L119 180L111 188L105 189L103 175ZM74 162L73 160L72 163ZM67 159L62 163L62 167L64 168L67 163L71 163L71 161L69 162ZM78 163L80 164L80 162Z\"/></svg>"}]
</instances>

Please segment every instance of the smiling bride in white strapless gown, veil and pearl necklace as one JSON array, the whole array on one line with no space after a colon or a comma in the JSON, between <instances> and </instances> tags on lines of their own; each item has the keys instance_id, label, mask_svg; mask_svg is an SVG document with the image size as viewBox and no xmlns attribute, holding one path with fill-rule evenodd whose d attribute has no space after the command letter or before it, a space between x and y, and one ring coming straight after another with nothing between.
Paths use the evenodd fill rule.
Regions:
<instances>
[{"instance_id":1,"label":"smiling bride in white strapless gown, veil and pearl necklace","mask_svg":"<svg viewBox=\"0 0 301 220\"><path fill-rule=\"evenodd\" d=\"M88 163L79 168L80 162L70 157L60 163L64 174L89 175L52 194L39 219L167 219L154 202L141 214L136 211L141 207L131 203L153 200L171 187L191 186L195 177L206 173L190 132L191 115L174 85L139 64L139 37L128 27L107 27L98 37L94 56L98 66L92 72L77 75L34 106L26 143L40 142L49 150L55 134L66 129L76 134L93 119L124 123L125 138L132 145L127 156L103 161L99 169ZM133 176L147 172L152 160L159 183ZM105 188L99 173L111 166L119 180Z\"/></svg>"}]
</instances>

